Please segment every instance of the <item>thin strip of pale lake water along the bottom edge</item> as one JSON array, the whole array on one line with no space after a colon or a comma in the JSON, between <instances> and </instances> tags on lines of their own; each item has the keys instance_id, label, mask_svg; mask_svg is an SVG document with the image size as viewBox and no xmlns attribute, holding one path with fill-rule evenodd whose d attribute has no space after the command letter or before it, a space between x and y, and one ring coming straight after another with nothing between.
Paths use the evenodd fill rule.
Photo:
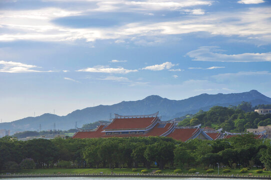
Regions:
<instances>
[{"instance_id":1,"label":"thin strip of pale lake water along the bottom edge","mask_svg":"<svg viewBox=\"0 0 271 180\"><path fill-rule=\"evenodd\" d=\"M19 177L19 178L0 178L8 180L240 180L236 178L199 178L199 177ZM256 178L255 178L256 179ZM245 180L245 179L242 179ZM251 179L249 179L251 180Z\"/></svg>"}]
</instances>

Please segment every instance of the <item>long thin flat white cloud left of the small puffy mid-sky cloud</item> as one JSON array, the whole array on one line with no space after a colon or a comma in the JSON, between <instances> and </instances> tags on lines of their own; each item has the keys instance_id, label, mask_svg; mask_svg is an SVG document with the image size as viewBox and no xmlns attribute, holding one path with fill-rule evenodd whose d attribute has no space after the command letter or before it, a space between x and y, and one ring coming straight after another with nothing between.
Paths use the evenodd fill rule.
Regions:
<instances>
[{"instance_id":1,"label":"long thin flat white cloud left of the small puffy mid-sky cloud","mask_svg":"<svg viewBox=\"0 0 271 180\"><path fill-rule=\"evenodd\" d=\"M79 69L76 71L79 71L79 72L101 72L101 73L129 73L129 72L137 72L138 70L124 69L123 67L111 68L111 67L98 66L98 67L88 67L88 68L84 68L84 69Z\"/></svg>"}]
</instances>

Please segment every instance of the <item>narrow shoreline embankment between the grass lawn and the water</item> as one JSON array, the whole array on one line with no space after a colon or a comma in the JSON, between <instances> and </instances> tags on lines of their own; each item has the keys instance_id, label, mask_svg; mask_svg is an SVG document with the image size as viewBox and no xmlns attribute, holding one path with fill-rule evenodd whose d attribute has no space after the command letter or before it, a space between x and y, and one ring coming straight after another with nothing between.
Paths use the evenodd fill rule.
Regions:
<instances>
[{"instance_id":1,"label":"narrow shoreline embankment between the grass lawn and the water","mask_svg":"<svg viewBox=\"0 0 271 180\"><path fill-rule=\"evenodd\" d=\"M0 174L0 178L15 178L15 177L197 177L197 178L240 178L240 179L270 179L270 175L218 175L218 174Z\"/></svg>"}]
</instances>

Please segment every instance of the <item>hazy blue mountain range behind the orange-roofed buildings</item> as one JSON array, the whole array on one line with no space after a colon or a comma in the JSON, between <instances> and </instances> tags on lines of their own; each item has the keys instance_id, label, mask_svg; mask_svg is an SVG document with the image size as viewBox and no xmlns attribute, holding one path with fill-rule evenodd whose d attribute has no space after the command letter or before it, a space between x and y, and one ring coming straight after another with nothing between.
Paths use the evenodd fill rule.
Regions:
<instances>
[{"instance_id":1,"label":"hazy blue mountain range behind the orange-roofed buildings","mask_svg":"<svg viewBox=\"0 0 271 180\"><path fill-rule=\"evenodd\" d=\"M0 129L14 131L37 130L41 124L41 130L52 129L55 123L56 129L74 128L77 126L98 120L108 120L110 113L122 115L150 114L159 111L162 120L169 120L187 113L195 113L198 110L208 110L214 105L237 105L241 101L251 102L252 105L271 104L271 98L257 90L229 94L200 94L182 100L170 100L158 95L150 95L142 100L122 101L112 105L98 105L75 110L65 116L45 113L36 117L25 117L12 122L0 123Z\"/></svg>"}]
</instances>

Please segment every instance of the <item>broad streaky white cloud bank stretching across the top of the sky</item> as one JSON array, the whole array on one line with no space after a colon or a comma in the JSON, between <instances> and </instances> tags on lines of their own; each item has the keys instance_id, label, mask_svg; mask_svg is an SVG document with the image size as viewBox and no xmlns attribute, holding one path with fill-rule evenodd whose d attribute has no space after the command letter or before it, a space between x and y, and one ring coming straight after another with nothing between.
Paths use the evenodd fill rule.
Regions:
<instances>
[{"instance_id":1,"label":"broad streaky white cloud bank stretching across the top of the sky","mask_svg":"<svg viewBox=\"0 0 271 180\"><path fill-rule=\"evenodd\" d=\"M52 22L58 17L88 14L97 11L129 11L179 9L193 5L210 5L211 1L98 1L98 8L83 8L80 11L63 10L60 8L42 8L34 10L1 10L0 41L11 40L40 40L40 41L95 41L97 39L114 39L116 43L125 42L125 39L139 37L133 41L139 45L162 43L157 38L153 42L144 41L142 36L158 37L161 35L183 34L190 32L208 32L213 35L238 35L254 38L257 41L266 41L263 36L270 36L271 8L258 7L243 9L242 11L213 12L200 16L186 18L170 18L167 21L139 21L115 25L112 27L84 27L75 28L60 26ZM129 6L131 8L125 8ZM136 7L136 8L135 8ZM150 8L150 9L149 9ZM135 10L136 9L136 10ZM100 11L99 11L100 10ZM202 14L203 11L193 9L191 13ZM260 44L260 43L259 43Z\"/></svg>"}]
</instances>

